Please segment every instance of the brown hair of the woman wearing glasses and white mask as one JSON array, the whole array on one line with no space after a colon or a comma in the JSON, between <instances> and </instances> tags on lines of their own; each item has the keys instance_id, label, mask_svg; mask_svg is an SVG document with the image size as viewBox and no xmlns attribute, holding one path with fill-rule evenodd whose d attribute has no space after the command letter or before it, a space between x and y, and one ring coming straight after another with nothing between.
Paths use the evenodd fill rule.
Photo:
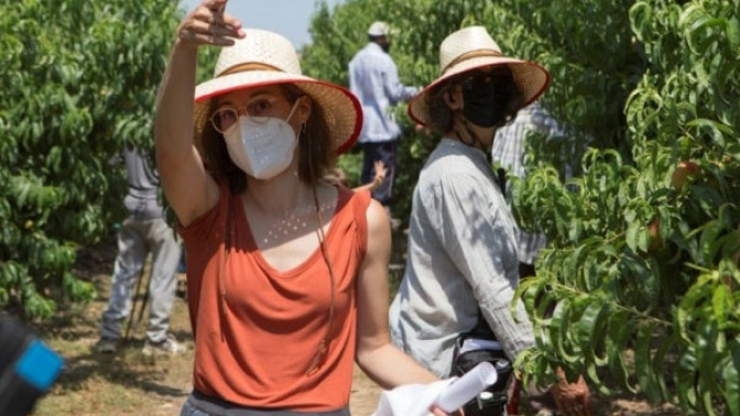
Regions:
<instances>
[{"instance_id":1,"label":"brown hair of the woman wearing glasses and white mask","mask_svg":"<svg viewBox=\"0 0 740 416\"><path fill-rule=\"evenodd\" d=\"M307 96L294 84L280 84L285 98L293 105L300 97ZM311 101L311 117L301 127L298 136L298 178L308 185L320 179L327 168L335 165L337 155L331 150L329 127L326 123L324 109ZM210 101L208 113L216 110L216 100ZM203 131L203 157L206 168L217 178L224 177L229 182L232 194L239 194L247 188L246 174L231 161L224 142L224 135L207 122Z\"/></svg>"}]
</instances>

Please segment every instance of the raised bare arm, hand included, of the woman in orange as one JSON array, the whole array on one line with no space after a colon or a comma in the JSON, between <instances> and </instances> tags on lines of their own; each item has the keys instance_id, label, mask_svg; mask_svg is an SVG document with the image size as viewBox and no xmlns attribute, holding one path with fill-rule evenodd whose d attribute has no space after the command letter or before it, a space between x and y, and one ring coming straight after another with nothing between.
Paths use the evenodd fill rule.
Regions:
<instances>
[{"instance_id":1,"label":"raised bare arm, hand included, of the woman in orange","mask_svg":"<svg viewBox=\"0 0 740 416\"><path fill-rule=\"evenodd\" d=\"M183 226L218 201L218 186L194 145L193 98L198 47L226 46L242 37L241 23L225 14L227 0L207 0L179 28L156 97L154 143L162 188Z\"/></svg>"}]
</instances>

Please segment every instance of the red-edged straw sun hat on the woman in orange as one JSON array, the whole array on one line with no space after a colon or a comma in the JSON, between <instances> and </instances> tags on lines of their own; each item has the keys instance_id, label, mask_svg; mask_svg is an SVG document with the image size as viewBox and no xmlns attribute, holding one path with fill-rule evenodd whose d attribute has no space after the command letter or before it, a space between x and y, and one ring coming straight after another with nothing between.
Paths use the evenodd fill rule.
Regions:
<instances>
[{"instance_id":1,"label":"red-edged straw sun hat on the woman in orange","mask_svg":"<svg viewBox=\"0 0 740 416\"><path fill-rule=\"evenodd\" d=\"M349 149L362 128L357 98L347 89L304 76L298 55L285 37L268 31L247 29L243 39L221 50L214 78L195 88L195 143L202 147L203 131L210 117L211 98L247 87L295 84L324 110L333 151Z\"/></svg>"}]
</instances>

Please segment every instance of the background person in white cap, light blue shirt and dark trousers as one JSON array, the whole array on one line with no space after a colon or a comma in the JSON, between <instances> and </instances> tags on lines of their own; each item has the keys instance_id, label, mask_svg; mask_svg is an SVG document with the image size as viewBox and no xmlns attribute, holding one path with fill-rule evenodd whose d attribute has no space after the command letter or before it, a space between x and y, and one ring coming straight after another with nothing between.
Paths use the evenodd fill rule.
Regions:
<instances>
[{"instance_id":1,"label":"background person in white cap, light blue shirt and dark trousers","mask_svg":"<svg viewBox=\"0 0 740 416\"><path fill-rule=\"evenodd\" d=\"M372 191L372 197L385 209L391 202L401 135L401 127L389 109L418 92L418 88L404 86L399 79L399 69L388 53L389 32L388 23L372 23L368 29L368 44L349 63L349 89L359 98L363 116L358 140L363 153L360 182L371 182L376 162L383 162L388 169L385 180Z\"/></svg>"}]
</instances>

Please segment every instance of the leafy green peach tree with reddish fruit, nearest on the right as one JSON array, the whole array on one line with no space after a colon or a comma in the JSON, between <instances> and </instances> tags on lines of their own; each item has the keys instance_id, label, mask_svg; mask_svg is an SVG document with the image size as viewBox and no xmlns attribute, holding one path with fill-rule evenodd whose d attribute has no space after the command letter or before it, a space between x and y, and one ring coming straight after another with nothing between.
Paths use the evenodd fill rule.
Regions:
<instances>
[{"instance_id":1,"label":"leafy green peach tree with reddish fruit, nearest on the right","mask_svg":"<svg viewBox=\"0 0 740 416\"><path fill-rule=\"evenodd\" d=\"M552 319L535 311L545 336L523 359L740 415L740 3L638 1L623 17L646 62L621 103L630 153L589 149L568 186L541 165L516 191L552 242L521 289L532 309L557 302Z\"/></svg>"}]
</instances>

